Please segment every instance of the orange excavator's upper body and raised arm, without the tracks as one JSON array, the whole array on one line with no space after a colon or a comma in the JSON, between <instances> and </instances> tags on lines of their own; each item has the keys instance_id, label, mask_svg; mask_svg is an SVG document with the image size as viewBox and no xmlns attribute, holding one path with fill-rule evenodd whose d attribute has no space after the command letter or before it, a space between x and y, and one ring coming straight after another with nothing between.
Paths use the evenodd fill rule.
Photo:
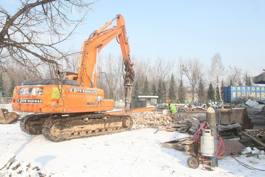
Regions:
<instances>
[{"instance_id":1,"label":"orange excavator's upper body and raised arm, without the tracks","mask_svg":"<svg viewBox=\"0 0 265 177\"><path fill-rule=\"evenodd\" d=\"M115 19L117 19L117 26L105 30ZM131 101L134 70L133 63L130 61L125 22L123 16L118 14L100 30L91 33L89 38L84 41L81 46L77 74L67 74L64 76L65 78L58 78L55 81L57 84L42 84L41 81L34 82L32 80L32 84L25 85L23 83L23 86L17 86L13 92L13 110L36 113L78 113L113 110L113 100L105 99L103 90L97 89L97 56L100 50L115 37L119 38L125 66L125 105L127 104L128 109L128 103ZM93 73L94 82L92 82ZM76 83L74 86L63 84L65 80L72 80ZM91 85L93 85L93 88L90 88Z\"/></svg>"}]
</instances>

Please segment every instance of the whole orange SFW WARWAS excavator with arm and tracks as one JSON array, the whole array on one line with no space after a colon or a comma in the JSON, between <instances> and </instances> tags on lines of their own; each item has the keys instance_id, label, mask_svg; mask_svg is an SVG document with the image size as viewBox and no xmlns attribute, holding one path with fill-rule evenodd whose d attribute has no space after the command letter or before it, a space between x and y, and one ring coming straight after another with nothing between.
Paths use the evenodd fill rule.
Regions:
<instances>
[{"instance_id":1,"label":"whole orange SFW WARWAS excavator with arm and tracks","mask_svg":"<svg viewBox=\"0 0 265 177\"><path fill-rule=\"evenodd\" d=\"M117 19L117 26L106 29ZM104 98L104 91L97 88L97 60L100 50L115 38L119 38L123 62L126 110L130 108L134 80L133 63L123 16L118 14L94 31L81 46L77 74L59 72L59 78L24 80L13 92L12 109L19 112L35 112L23 117L22 131L43 134L53 141L64 141L98 136L129 130L133 121L129 115L102 113L114 109L114 102ZM94 74L94 86L92 76Z\"/></svg>"}]
</instances>

